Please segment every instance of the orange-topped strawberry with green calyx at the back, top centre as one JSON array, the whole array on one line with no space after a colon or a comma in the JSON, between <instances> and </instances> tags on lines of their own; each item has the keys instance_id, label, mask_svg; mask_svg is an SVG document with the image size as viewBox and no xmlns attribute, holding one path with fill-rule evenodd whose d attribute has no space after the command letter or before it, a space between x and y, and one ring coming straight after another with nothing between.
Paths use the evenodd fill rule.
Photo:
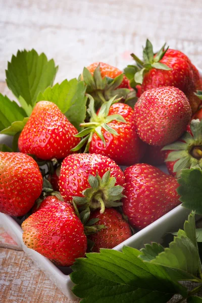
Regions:
<instances>
[{"instance_id":1,"label":"orange-topped strawberry with green calyx at the back, top centre","mask_svg":"<svg viewBox=\"0 0 202 303\"><path fill-rule=\"evenodd\" d=\"M114 95L125 102L135 102L136 92L130 87L123 72L115 67L105 63L93 63L84 68L81 77L87 86L86 92L95 100L96 110Z\"/></svg>"}]
</instances>

